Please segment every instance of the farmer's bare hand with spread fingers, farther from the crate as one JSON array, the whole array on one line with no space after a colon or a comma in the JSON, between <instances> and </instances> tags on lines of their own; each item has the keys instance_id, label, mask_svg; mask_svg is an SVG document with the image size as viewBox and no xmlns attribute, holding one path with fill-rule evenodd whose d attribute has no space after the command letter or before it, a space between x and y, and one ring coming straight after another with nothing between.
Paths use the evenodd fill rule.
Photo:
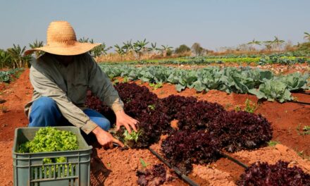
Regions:
<instances>
[{"instance_id":1,"label":"farmer's bare hand with spread fingers, farther from the crate","mask_svg":"<svg viewBox=\"0 0 310 186\"><path fill-rule=\"evenodd\" d=\"M131 133L131 128L137 132L136 124L139 122L134 118L128 116L124 111L116 111L116 130L120 129L120 126L124 126L129 133ZM130 128L131 127L131 128Z\"/></svg>"}]
</instances>

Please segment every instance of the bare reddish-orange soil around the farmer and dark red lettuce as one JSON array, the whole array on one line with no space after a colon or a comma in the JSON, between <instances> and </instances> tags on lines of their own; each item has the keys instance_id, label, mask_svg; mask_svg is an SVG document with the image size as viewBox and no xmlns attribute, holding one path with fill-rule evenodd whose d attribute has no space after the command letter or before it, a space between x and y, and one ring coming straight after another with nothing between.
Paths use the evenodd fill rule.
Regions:
<instances>
[{"instance_id":1,"label":"bare reddish-orange soil around the farmer and dark red lettuce","mask_svg":"<svg viewBox=\"0 0 310 186\"><path fill-rule=\"evenodd\" d=\"M140 82L137 82L140 84ZM147 85L147 83L143 83ZM147 85L147 87L149 87ZM151 89L151 87L149 87ZM244 108L244 101L250 99L257 102L256 97L248 94L226 94L211 90L206 94L196 93L194 89L185 89L176 92L174 85L164 85L160 89L152 90L159 97L167 97L170 94L182 96L194 96L211 102L218 102L226 109L235 109L235 106ZM305 94L293 94L299 101L310 102L310 96ZM27 126L28 120L23 112L23 107L32 97L32 86L29 82L29 70L20 75L20 78L10 85L0 89L0 99L5 99L0 104L0 182L1 185L13 185L13 166L11 149L13 146L14 129ZM3 112L4 111L4 112ZM309 160L304 160L295 151L302 151L304 155L310 155L310 135L299 135L298 128L310 125L310 106L302 104L277 102L263 102L256 113L265 116L273 126L273 140L284 145L264 147L254 151L240 151L230 154L244 163L254 161L267 161L275 163L278 159L291 161L292 165L300 166L306 172L310 172ZM151 146L160 152L160 144ZM149 163L149 166L160 163L146 149L120 149L104 150L94 148L92 154L91 182L92 185L137 185L135 172L142 168L140 158ZM148 166L148 167L149 167ZM234 182L243 172L243 168L227 159L220 159L210 165L194 165L190 178L199 185L235 185ZM166 185L186 185L178 178Z\"/></svg>"}]
</instances>

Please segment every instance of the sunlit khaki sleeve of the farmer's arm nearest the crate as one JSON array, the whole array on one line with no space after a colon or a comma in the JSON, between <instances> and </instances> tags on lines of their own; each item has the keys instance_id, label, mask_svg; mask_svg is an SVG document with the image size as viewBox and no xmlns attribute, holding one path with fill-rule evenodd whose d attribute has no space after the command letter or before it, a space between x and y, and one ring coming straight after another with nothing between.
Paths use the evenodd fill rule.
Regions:
<instances>
[{"instance_id":1,"label":"sunlit khaki sleeve of the farmer's arm nearest the crate","mask_svg":"<svg viewBox=\"0 0 310 186\"><path fill-rule=\"evenodd\" d=\"M80 108L70 101L66 96L66 92L63 92L55 82L51 81L33 66L30 68L30 82L40 96L54 99L63 117L77 128L89 134L89 132L92 132L97 127L96 123L92 122Z\"/></svg>"}]
</instances>

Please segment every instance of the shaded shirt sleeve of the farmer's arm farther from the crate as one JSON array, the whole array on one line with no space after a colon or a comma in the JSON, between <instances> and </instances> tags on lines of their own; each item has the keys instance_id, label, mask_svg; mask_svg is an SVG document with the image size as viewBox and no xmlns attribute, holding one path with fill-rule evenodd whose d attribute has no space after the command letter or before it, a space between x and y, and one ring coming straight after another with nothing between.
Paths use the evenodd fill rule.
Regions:
<instances>
[{"instance_id":1,"label":"shaded shirt sleeve of the farmer's arm farther from the crate","mask_svg":"<svg viewBox=\"0 0 310 186\"><path fill-rule=\"evenodd\" d=\"M89 56L89 89L97 95L101 101L109 106L114 113L123 110L123 101L113 87L109 77L98 66L96 61Z\"/></svg>"}]
</instances>

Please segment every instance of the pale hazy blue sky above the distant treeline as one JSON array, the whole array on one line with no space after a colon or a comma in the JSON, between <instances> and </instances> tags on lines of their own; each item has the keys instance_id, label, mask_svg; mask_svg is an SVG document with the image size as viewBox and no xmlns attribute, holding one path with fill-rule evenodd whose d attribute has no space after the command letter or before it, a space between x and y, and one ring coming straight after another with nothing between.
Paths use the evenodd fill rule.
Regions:
<instances>
[{"instance_id":1,"label":"pale hazy blue sky above the distant treeline","mask_svg":"<svg viewBox=\"0 0 310 186\"><path fill-rule=\"evenodd\" d=\"M67 20L77 38L89 37L109 46L147 38L157 44L206 49L237 46L273 36L303 42L310 32L307 0L123 0L5 1L0 6L0 48L46 41L52 20Z\"/></svg>"}]
</instances>

